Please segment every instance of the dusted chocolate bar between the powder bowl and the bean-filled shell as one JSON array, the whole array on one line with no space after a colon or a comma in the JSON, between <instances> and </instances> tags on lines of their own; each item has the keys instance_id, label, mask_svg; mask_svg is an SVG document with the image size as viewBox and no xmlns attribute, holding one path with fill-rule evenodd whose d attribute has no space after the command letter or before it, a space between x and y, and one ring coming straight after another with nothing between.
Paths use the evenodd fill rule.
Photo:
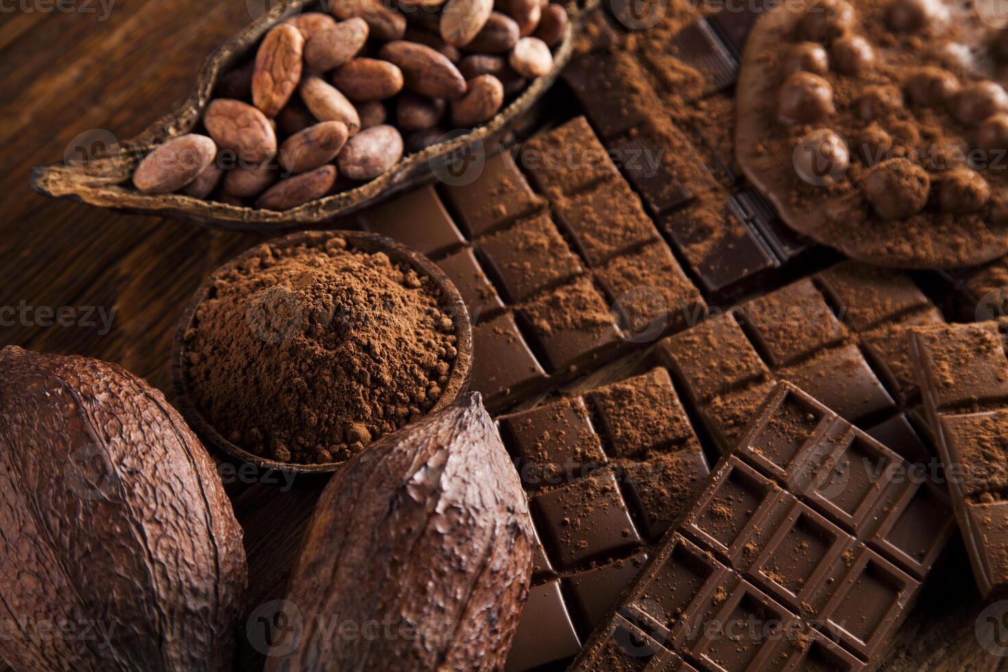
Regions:
<instances>
[{"instance_id":1,"label":"dusted chocolate bar between the powder bowl and the bean-filled shell","mask_svg":"<svg viewBox=\"0 0 1008 672\"><path fill-rule=\"evenodd\" d=\"M431 256L459 287L477 321L473 387L494 411L706 312L584 119L536 142L593 162L532 171L533 183L561 186L545 198L502 152L471 184L422 187L361 217Z\"/></svg>"}]
</instances>

